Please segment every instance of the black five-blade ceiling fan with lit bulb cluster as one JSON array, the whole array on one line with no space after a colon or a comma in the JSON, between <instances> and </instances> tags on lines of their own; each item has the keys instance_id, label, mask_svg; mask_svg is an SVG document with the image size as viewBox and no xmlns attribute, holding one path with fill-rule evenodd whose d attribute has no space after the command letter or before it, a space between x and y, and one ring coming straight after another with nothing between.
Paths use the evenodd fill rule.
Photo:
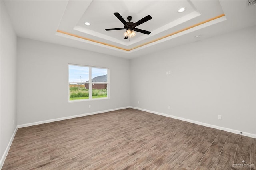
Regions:
<instances>
[{"instance_id":1,"label":"black five-blade ceiling fan with lit bulb cluster","mask_svg":"<svg viewBox=\"0 0 256 170\"><path fill-rule=\"evenodd\" d=\"M131 22L131 20L132 20L131 16L127 17L128 22L126 22L124 20L124 18L118 12L115 12L114 15L124 24L124 28L110 28L110 29L105 29L106 31L125 30L126 29L127 31L124 33L124 39L134 37L136 35L134 31L141 32L143 34L150 34L151 33L150 31L135 28L136 26L139 26L140 24L143 24L144 22L147 22L148 20L151 20L152 17L150 15L145 16L144 18L142 18L141 20L138 20L135 23Z\"/></svg>"}]
</instances>

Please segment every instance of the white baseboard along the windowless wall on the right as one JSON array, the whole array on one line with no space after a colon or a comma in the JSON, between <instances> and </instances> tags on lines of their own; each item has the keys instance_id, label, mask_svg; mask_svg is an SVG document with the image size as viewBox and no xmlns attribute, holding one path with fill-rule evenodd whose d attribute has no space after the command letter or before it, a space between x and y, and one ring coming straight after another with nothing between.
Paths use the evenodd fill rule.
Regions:
<instances>
[{"instance_id":1,"label":"white baseboard along the windowless wall on the right","mask_svg":"<svg viewBox=\"0 0 256 170\"><path fill-rule=\"evenodd\" d=\"M178 119L178 120L181 120L181 121L195 123L195 124L202 125L202 126L205 126L205 127L216 128L216 129L219 129L219 130L224 130L224 131L235 133L235 134L240 134L240 132L242 132L242 131L239 131L239 130L234 130L234 129L225 128L225 127L219 127L219 126L211 125L211 124L208 124L208 123L202 123L202 122L193 121L193 120L190 120L190 119L185 119L185 118L182 118L182 117L168 115L168 114L165 114L165 113L159 113L159 112L155 112L155 111L150 111L150 110L142 109L142 108L139 108L139 107L131 106L130 108L138 109L138 110L141 110L141 111L146 111L146 112L149 112L149 113L154 113L154 114L157 114L157 115L162 115L162 116L166 116L166 117L170 117L170 118L174 118L174 119ZM251 138L256 138L256 134L252 134L252 133L242 132L242 135L248 136L248 137L251 137Z\"/></svg>"}]
</instances>

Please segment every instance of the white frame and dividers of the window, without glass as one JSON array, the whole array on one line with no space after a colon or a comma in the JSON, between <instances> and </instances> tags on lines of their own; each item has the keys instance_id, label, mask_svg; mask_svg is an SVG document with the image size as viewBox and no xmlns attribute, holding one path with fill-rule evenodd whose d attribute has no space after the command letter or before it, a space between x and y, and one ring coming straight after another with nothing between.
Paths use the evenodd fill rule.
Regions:
<instances>
[{"instance_id":1,"label":"white frame and dividers of the window, without glass","mask_svg":"<svg viewBox=\"0 0 256 170\"><path fill-rule=\"evenodd\" d=\"M88 65L79 65L79 64L68 64L68 75L69 75L69 66L70 65L74 65L74 66L78 66L78 67L88 67L89 68L89 82L85 83L85 82L69 82L69 78L68 78L68 102L79 102L79 101L92 101L92 100L104 100L104 99L109 99L109 69L105 68L105 67L94 67L94 66L88 66ZM107 82L93 82L92 83L92 68L98 68L98 69L107 69L107 75L108 75L108 81ZM80 84L89 84L89 99L76 99L76 100L70 100L70 83L80 83ZM107 84L107 97L102 97L102 98L92 98L92 84Z\"/></svg>"}]
</instances>

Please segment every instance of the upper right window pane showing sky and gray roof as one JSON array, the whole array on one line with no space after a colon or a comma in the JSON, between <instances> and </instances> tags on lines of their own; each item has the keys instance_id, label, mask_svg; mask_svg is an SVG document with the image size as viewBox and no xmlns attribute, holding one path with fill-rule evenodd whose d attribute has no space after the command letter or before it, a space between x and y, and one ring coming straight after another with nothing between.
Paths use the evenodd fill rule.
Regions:
<instances>
[{"instance_id":1,"label":"upper right window pane showing sky and gray roof","mask_svg":"<svg viewBox=\"0 0 256 170\"><path fill-rule=\"evenodd\" d=\"M108 82L108 69L92 67L92 82Z\"/></svg>"}]
</instances>

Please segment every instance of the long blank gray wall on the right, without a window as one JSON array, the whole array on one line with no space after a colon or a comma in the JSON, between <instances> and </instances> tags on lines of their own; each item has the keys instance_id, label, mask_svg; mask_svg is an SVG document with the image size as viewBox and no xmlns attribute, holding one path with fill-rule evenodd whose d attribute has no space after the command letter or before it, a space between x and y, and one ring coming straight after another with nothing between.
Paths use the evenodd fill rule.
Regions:
<instances>
[{"instance_id":1,"label":"long blank gray wall on the right, without a window","mask_svg":"<svg viewBox=\"0 0 256 170\"><path fill-rule=\"evenodd\" d=\"M255 46L250 27L132 59L130 105L256 134Z\"/></svg>"}]
</instances>

